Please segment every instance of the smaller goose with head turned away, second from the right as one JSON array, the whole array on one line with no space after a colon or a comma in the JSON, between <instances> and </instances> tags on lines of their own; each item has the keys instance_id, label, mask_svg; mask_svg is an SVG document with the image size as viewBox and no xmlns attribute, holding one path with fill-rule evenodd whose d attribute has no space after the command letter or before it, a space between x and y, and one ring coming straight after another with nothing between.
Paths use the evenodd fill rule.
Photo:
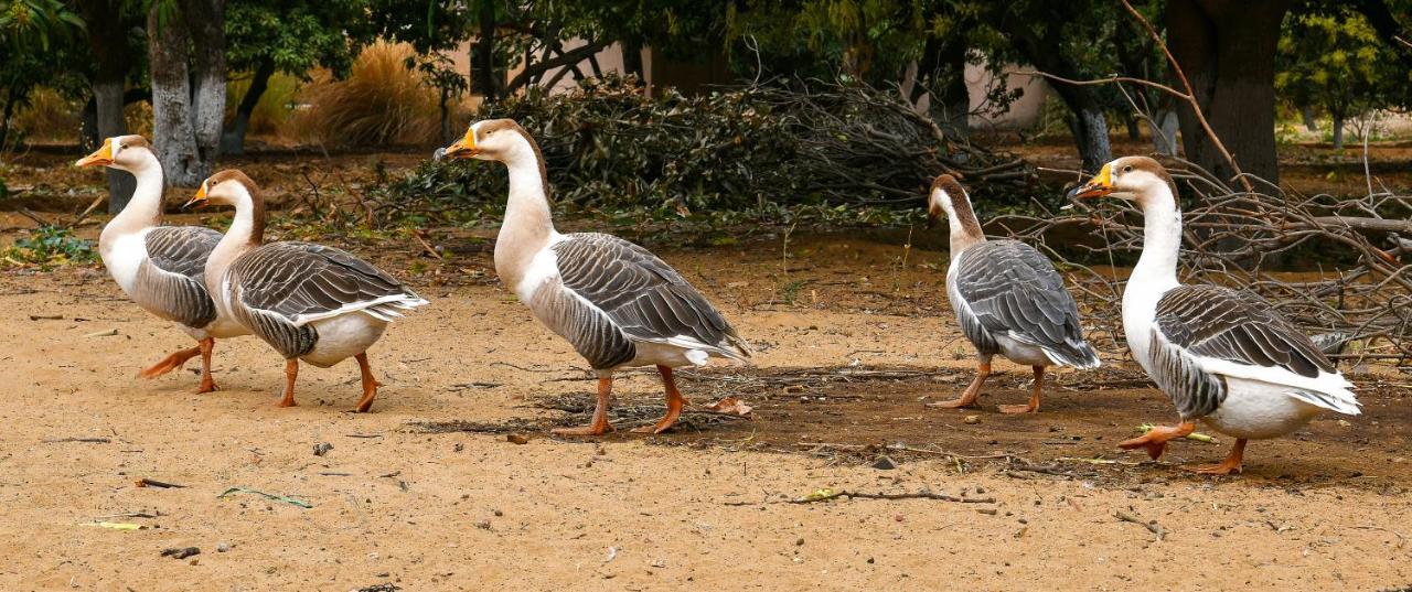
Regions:
<instances>
[{"instance_id":1,"label":"smaller goose with head turned away, second from the right","mask_svg":"<svg viewBox=\"0 0 1412 592\"><path fill-rule=\"evenodd\" d=\"M990 376L990 359L1004 355L1029 365L1035 385L1027 405L1001 405L1001 413L1035 413L1043 390L1045 368L1059 364L1099 368L1099 354L1083 340L1079 304L1063 278L1039 251L1019 241L987 240L971 210L966 189L950 175L932 182L928 217L945 213L950 227L950 266L946 296L962 333L976 347L976 379L962 396L929 403L933 407L976 405Z\"/></svg>"}]
</instances>

